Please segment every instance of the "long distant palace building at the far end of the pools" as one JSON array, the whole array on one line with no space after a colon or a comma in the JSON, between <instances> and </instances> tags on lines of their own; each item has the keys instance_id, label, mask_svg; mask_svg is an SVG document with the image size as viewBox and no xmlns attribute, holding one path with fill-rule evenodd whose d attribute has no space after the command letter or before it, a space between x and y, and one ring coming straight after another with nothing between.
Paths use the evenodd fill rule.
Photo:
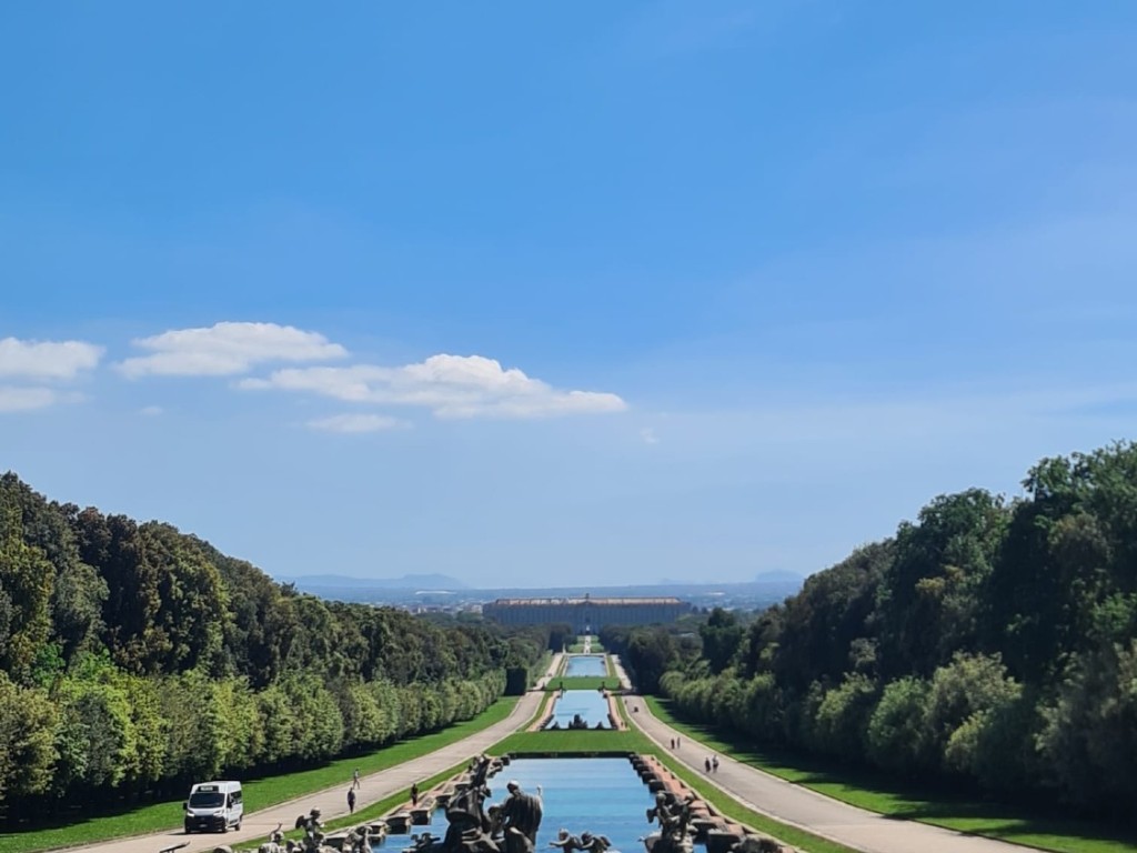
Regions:
<instances>
[{"instance_id":1,"label":"long distant palace building at the far end of the pools","mask_svg":"<svg viewBox=\"0 0 1137 853\"><path fill-rule=\"evenodd\" d=\"M498 598L482 605L482 615L500 624L566 622L576 633L596 633L605 626L674 622L691 605L673 597L658 598Z\"/></svg>"}]
</instances>

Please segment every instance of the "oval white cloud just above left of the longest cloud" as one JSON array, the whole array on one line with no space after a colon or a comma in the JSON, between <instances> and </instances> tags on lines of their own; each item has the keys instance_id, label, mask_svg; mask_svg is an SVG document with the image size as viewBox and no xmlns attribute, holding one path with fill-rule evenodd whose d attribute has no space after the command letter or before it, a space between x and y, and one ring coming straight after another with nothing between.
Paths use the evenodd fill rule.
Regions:
<instances>
[{"instance_id":1,"label":"oval white cloud just above left of the longest cloud","mask_svg":"<svg viewBox=\"0 0 1137 853\"><path fill-rule=\"evenodd\" d=\"M175 329L133 341L152 355L127 358L118 368L131 379L144 375L230 376L263 362L319 362L347 350L317 332L276 323L216 323Z\"/></svg>"}]
</instances>

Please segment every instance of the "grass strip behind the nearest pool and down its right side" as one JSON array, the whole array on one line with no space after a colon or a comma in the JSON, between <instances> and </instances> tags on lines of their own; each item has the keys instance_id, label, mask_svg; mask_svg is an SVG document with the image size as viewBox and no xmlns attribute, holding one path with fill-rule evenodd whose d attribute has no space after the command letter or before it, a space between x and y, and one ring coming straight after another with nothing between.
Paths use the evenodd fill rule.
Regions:
<instances>
[{"instance_id":1,"label":"grass strip behind the nearest pool and down its right side","mask_svg":"<svg viewBox=\"0 0 1137 853\"><path fill-rule=\"evenodd\" d=\"M568 753L578 755L599 755L604 753L639 753L656 755L675 776L680 777L692 790L712 803L720 813L728 818L753 827L762 833L780 838L807 853L856 853L850 847L843 846L825 838L820 838L795 827L750 811L719 788L699 778L687 768L680 765L665 750L661 750L638 729L629 731L534 731L511 735L493 745L491 753L504 755L553 755ZM648 830L645 828L645 834Z\"/></svg>"}]
</instances>

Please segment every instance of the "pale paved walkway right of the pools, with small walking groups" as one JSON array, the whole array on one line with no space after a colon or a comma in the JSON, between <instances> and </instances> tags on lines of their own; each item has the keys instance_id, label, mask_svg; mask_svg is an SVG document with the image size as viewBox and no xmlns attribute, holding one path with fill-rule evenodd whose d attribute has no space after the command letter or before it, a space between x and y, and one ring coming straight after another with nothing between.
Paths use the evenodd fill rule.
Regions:
<instances>
[{"instance_id":1,"label":"pale paved walkway right of the pools, with small walking groups","mask_svg":"<svg viewBox=\"0 0 1137 853\"><path fill-rule=\"evenodd\" d=\"M913 820L886 818L818 794L800 785L719 755L717 772L707 775L704 762L714 753L680 735L654 717L639 696L625 696L628 719L675 759L706 778L748 809L782 823L805 829L866 853L1023 853L1016 844L962 835ZM639 710L631 712L631 706ZM682 745L671 750L671 739Z\"/></svg>"}]
</instances>

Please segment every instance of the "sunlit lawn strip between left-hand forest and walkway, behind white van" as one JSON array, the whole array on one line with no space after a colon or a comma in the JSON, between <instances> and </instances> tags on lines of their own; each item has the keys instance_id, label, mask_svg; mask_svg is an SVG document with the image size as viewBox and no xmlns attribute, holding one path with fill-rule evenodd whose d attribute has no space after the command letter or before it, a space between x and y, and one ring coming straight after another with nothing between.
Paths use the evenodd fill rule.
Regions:
<instances>
[{"instance_id":1,"label":"sunlit lawn strip between left-hand forest and walkway, behind white van","mask_svg":"<svg viewBox=\"0 0 1137 853\"><path fill-rule=\"evenodd\" d=\"M506 719L516 703L516 696L500 698L472 720L449 726L441 731L400 740L366 755L339 759L296 773L244 780L244 808L251 813L335 785L347 786L356 768L359 768L360 775L366 776L440 750ZM345 795L346 792L347 787ZM179 797L123 810L116 814L84 818L66 826L6 833L0 835L0 853L35 853L173 829L181 825L183 800L184 797Z\"/></svg>"}]
</instances>

